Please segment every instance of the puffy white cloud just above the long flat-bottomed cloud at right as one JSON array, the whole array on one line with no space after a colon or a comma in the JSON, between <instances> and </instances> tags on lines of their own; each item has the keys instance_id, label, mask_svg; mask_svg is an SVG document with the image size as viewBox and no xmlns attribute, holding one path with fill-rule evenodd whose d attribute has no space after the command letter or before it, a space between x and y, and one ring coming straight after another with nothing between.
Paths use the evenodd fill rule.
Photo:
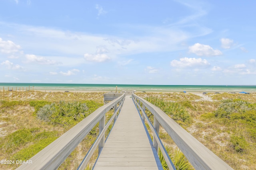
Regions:
<instances>
[{"instance_id":1,"label":"puffy white cloud just above the long flat-bottomed cloud at right","mask_svg":"<svg viewBox=\"0 0 256 170\"><path fill-rule=\"evenodd\" d=\"M200 43L195 43L194 45L188 47L189 53L194 53L198 56L215 56L222 55L220 50L214 50L210 45L204 45Z\"/></svg>"}]
</instances>

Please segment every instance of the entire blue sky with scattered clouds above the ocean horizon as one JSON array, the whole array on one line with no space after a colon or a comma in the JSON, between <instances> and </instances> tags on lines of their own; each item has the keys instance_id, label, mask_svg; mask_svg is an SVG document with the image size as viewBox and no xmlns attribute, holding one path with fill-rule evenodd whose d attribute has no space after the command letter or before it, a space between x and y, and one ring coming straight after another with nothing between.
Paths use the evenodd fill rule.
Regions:
<instances>
[{"instance_id":1,"label":"entire blue sky with scattered clouds above the ocean horizon","mask_svg":"<svg viewBox=\"0 0 256 170\"><path fill-rule=\"evenodd\" d=\"M0 82L256 85L255 6L1 0Z\"/></svg>"}]
</instances>

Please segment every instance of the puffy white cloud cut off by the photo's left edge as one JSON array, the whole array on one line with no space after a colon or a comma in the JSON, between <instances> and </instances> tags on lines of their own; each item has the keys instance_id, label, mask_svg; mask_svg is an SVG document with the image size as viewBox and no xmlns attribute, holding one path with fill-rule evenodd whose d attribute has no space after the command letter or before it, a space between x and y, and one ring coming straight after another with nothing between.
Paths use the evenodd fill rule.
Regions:
<instances>
[{"instance_id":1,"label":"puffy white cloud cut off by the photo's left edge","mask_svg":"<svg viewBox=\"0 0 256 170\"><path fill-rule=\"evenodd\" d=\"M2 38L0 38L0 52L1 53L16 53L21 49L20 45L16 45L12 41L3 41Z\"/></svg>"}]
</instances>

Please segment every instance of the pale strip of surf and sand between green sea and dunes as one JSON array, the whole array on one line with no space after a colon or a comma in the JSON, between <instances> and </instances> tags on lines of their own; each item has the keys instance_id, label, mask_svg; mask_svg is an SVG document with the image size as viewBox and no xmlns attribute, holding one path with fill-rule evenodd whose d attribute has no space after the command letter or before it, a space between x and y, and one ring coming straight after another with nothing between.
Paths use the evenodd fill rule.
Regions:
<instances>
[{"instance_id":1,"label":"pale strip of surf and sand between green sea and dunes","mask_svg":"<svg viewBox=\"0 0 256 170\"><path fill-rule=\"evenodd\" d=\"M202 94L202 93L239 93L239 92L247 92L247 93L256 93L256 86L250 87L249 86L233 86L228 88L222 87L219 88L217 86L209 86L207 87L201 87L200 85L196 87L168 87L168 88L161 88L161 87L147 87L147 86L142 86L142 87L136 87L136 86L130 86L130 87L124 87L124 86L116 86L117 87L117 92L122 93L124 91L127 92L148 92L148 93L173 93L173 92L184 92L186 93L196 93L196 94ZM116 87L115 86L101 86L101 87L89 87L89 86L0 86L0 92L3 92L3 90L6 91L40 91L40 92L116 92Z\"/></svg>"}]
</instances>

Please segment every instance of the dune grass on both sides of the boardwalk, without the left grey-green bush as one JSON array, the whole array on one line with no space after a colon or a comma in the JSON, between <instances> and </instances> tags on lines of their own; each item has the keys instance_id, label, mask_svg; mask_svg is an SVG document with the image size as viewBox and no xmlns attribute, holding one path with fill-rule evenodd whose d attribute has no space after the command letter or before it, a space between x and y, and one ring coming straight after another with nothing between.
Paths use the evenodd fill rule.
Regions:
<instances>
[{"instance_id":1,"label":"dune grass on both sides of the boardwalk, without the left grey-green bush","mask_svg":"<svg viewBox=\"0 0 256 170\"><path fill-rule=\"evenodd\" d=\"M0 160L26 159L32 156L28 153L36 154L76 123L65 126L62 121L52 123L38 119L36 113L43 106L53 103L57 105L60 101L65 101L68 105L76 101L86 104L89 114L103 105L104 94L103 92L34 92L27 94L28 97L24 97L24 100L20 100L17 94L15 101L16 93L9 92L9 101L7 101L7 92L5 93L5 100L0 100ZM0 99L3 97L1 95ZM155 100L158 107L162 105L163 110L170 117L177 122L180 121L178 123L184 129L235 170L256 170L255 94L207 94L214 100L212 102L198 100L200 96L184 93L136 93L136 95ZM106 122L112 114L113 110L106 114ZM177 117L180 115L181 117ZM183 119L184 115L188 119ZM150 113L148 116L150 117ZM111 127L108 133L110 129ZM97 135L98 126L95 126L59 169L76 169ZM161 126L159 136L167 146L172 147L173 154L176 146ZM93 164L97 155L96 150L90 164ZM16 167L16 165L0 165L0 169Z\"/></svg>"}]
</instances>

